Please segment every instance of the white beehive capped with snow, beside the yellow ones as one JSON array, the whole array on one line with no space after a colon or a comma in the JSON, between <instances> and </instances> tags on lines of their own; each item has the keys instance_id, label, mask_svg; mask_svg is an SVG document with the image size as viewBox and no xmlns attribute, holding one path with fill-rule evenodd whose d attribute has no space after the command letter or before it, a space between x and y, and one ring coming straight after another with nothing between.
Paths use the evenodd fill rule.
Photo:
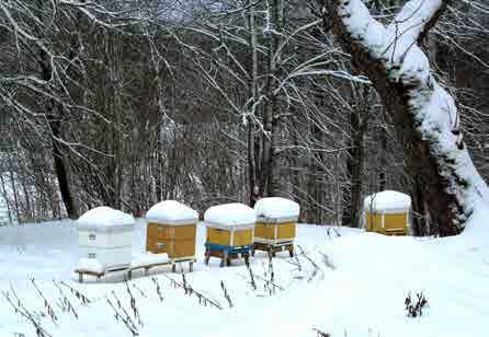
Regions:
<instances>
[{"instance_id":1,"label":"white beehive capped with snow, beside the yellow ones","mask_svg":"<svg viewBox=\"0 0 489 337\"><path fill-rule=\"evenodd\" d=\"M133 216L110 207L96 207L78 219L80 260L92 259L104 271L130 266Z\"/></svg>"}]
</instances>

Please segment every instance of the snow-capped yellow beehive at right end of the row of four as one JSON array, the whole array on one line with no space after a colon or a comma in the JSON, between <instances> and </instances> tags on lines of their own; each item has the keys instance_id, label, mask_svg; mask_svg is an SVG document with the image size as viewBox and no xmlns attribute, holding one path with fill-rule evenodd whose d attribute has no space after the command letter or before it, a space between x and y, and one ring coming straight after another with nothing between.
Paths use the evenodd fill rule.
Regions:
<instances>
[{"instance_id":1,"label":"snow-capped yellow beehive at right end of the row of four","mask_svg":"<svg viewBox=\"0 0 489 337\"><path fill-rule=\"evenodd\" d=\"M262 198L254 210L258 217L254 242L277 245L294 241L300 211L297 202L280 197Z\"/></svg>"}]
</instances>

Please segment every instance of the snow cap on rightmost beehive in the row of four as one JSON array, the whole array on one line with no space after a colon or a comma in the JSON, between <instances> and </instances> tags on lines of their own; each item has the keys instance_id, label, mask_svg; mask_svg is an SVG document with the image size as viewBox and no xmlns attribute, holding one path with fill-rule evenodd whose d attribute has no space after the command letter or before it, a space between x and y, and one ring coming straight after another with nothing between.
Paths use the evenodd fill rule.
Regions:
<instances>
[{"instance_id":1,"label":"snow cap on rightmost beehive in the row of four","mask_svg":"<svg viewBox=\"0 0 489 337\"><path fill-rule=\"evenodd\" d=\"M289 199L270 197L258 200L254 205L254 210L259 218L298 218L300 207L297 202Z\"/></svg>"}]
</instances>

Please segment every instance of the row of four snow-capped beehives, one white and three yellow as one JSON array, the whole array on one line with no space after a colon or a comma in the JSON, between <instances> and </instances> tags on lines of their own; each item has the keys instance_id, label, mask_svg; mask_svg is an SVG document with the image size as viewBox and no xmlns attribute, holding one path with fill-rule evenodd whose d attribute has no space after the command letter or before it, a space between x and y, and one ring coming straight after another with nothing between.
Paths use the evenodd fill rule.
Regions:
<instances>
[{"instance_id":1,"label":"row of four snow-capped beehives, one white and three yellow","mask_svg":"<svg viewBox=\"0 0 489 337\"><path fill-rule=\"evenodd\" d=\"M248 262L254 249L293 254L298 204L284 198L260 199L254 208L243 204L214 206L204 213L205 263L219 257L221 266L239 256ZM161 201L146 214L146 251L177 263L195 260L198 213L173 200ZM78 220L80 264L83 270L130 268L134 218L109 207L98 207ZM151 259L155 260L155 259ZM148 262L149 264L150 262Z\"/></svg>"}]
</instances>

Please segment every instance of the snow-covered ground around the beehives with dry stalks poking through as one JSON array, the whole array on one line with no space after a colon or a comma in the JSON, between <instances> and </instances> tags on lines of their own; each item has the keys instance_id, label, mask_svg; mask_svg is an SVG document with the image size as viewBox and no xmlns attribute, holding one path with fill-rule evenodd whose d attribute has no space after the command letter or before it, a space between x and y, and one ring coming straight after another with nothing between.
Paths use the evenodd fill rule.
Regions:
<instances>
[{"instance_id":1,"label":"snow-covered ground around the beehives with dry stalks poking through","mask_svg":"<svg viewBox=\"0 0 489 337\"><path fill-rule=\"evenodd\" d=\"M331 336L487 336L489 235L484 239L468 231L457 237L414 239L339 231L341 236L332 233L329 237L325 226L299 225L297 244L305 254L298 248L298 260L285 253L273 259L273 283L277 286L273 291L274 287L264 281L271 274L263 253L251 259L257 290L241 262L219 268L219 262L212 258L205 266L205 229L198 225L198 262L195 271L185 274L185 278L195 291L223 310L200 304L195 294L185 295L169 279L181 283L182 275L162 267L151 270L150 277L135 272L128 282L139 323L126 284L121 282L123 275L114 274L99 283L75 281L78 241L71 222L0 228L0 290L13 298L13 289L22 305L53 337L133 336L121 318L116 321L107 302L109 299L125 317L115 297L137 334L148 337L306 337L317 336L315 328ZM134 255L143 252L144 237L144 224L138 222ZM56 322L47 315L45 301L31 278L53 307ZM80 290L91 302L83 305L61 281ZM232 307L224 297L221 281ZM64 295L56 286L78 318L62 311L67 302L62 304ZM409 291L427 295L429 307L422 317L406 316L403 301ZM12 302L19 305L16 300ZM15 313L3 294L0 317L1 337L36 336L34 325Z\"/></svg>"}]
</instances>

